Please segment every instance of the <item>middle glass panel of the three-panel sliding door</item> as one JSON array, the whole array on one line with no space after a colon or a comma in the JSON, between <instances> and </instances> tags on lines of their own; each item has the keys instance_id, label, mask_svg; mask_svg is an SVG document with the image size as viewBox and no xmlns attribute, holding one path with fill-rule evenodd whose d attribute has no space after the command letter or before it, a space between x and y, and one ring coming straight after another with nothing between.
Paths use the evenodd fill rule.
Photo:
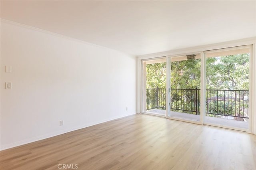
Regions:
<instances>
[{"instance_id":1,"label":"middle glass panel of the three-panel sliding door","mask_svg":"<svg viewBox=\"0 0 256 170\"><path fill-rule=\"evenodd\" d=\"M201 54L170 58L168 117L200 121Z\"/></svg>"}]
</instances>

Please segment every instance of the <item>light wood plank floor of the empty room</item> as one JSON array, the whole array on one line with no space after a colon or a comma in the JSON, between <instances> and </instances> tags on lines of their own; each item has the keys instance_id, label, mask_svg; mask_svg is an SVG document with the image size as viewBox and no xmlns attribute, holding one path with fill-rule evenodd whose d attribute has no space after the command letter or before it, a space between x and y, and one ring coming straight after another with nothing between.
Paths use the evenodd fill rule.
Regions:
<instances>
[{"instance_id":1,"label":"light wood plank floor of the empty room","mask_svg":"<svg viewBox=\"0 0 256 170\"><path fill-rule=\"evenodd\" d=\"M132 115L0 154L1 170L256 170L256 135Z\"/></svg>"}]
</instances>

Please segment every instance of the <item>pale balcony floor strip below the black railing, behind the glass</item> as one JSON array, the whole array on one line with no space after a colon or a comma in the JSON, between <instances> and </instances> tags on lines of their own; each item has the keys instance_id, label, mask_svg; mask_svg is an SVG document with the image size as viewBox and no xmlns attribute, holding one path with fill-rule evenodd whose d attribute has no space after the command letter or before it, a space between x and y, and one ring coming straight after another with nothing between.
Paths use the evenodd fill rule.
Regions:
<instances>
[{"instance_id":1,"label":"pale balcony floor strip below the black railing, behind the glass","mask_svg":"<svg viewBox=\"0 0 256 170\"><path fill-rule=\"evenodd\" d=\"M156 115L164 115L165 116L165 110L160 109L151 109L146 111L146 113L153 113ZM180 113L180 112L174 112L171 111L171 117L178 118L178 119L186 119L190 121L200 121L200 115L193 115L188 113ZM206 116L206 123L212 123L216 125L223 125L223 126L229 126L229 127L237 127L237 128L249 128L249 123L244 121L234 121L224 118L218 118L218 117L208 117Z\"/></svg>"}]
</instances>

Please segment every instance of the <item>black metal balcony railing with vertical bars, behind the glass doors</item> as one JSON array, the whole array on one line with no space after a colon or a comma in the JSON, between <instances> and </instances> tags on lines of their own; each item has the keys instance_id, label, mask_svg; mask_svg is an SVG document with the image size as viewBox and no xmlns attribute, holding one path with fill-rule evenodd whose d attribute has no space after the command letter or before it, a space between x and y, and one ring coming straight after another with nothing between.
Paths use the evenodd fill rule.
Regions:
<instances>
[{"instance_id":1,"label":"black metal balcony railing with vertical bars, behind the glass doors","mask_svg":"<svg viewBox=\"0 0 256 170\"><path fill-rule=\"evenodd\" d=\"M200 115L200 89L170 89L171 111ZM166 108L166 89L146 89L146 110ZM248 90L206 89L207 116L248 119Z\"/></svg>"}]
</instances>

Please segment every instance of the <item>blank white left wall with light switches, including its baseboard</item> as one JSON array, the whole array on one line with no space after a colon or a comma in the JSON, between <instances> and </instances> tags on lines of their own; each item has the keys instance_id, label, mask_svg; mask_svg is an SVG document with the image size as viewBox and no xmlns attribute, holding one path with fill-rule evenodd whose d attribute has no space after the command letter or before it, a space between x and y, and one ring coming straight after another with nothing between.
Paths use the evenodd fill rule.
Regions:
<instances>
[{"instance_id":1,"label":"blank white left wall with light switches, including its baseboard","mask_svg":"<svg viewBox=\"0 0 256 170\"><path fill-rule=\"evenodd\" d=\"M1 21L1 150L135 113L134 56Z\"/></svg>"}]
</instances>

